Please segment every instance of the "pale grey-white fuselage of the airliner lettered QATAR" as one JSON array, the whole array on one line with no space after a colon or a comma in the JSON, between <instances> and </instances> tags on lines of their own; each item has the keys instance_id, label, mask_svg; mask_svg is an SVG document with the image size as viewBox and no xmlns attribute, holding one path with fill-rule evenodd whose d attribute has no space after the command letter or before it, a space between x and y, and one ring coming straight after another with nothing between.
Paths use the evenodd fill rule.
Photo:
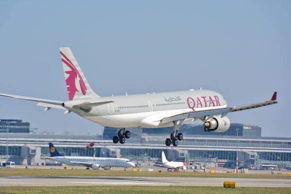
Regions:
<instances>
[{"instance_id":1,"label":"pale grey-white fuselage of the airliner lettered QATAR","mask_svg":"<svg viewBox=\"0 0 291 194\"><path fill-rule=\"evenodd\" d=\"M74 104L114 101L94 106L88 113ZM160 120L178 113L225 108L226 100L221 94L210 90L152 93L95 99L78 99L65 102L65 108L98 124L118 128L161 128L171 127L173 122ZM193 118L186 119L192 121Z\"/></svg>"}]
</instances>

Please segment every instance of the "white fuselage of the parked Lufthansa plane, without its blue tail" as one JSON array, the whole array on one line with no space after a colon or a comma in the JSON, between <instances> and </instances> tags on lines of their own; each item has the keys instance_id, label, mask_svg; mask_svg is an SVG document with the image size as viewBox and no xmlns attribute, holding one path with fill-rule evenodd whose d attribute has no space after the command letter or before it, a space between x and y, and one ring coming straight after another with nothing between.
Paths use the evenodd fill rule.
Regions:
<instances>
[{"instance_id":1,"label":"white fuselage of the parked Lufthansa plane, without its blue tail","mask_svg":"<svg viewBox=\"0 0 291 194\"><path fill-rule=\"evenodd\" d=\"M68 165L81 165L89 166L89 164L82 163L92 163L99 164L101 168L106 167L134 167L134 163L128 159L123 158L99 158L99 157L74 157L74 156L56 156L55 161L65 163ZM80 162L80 163L78 163Z\"/></svg>"}]
</instances>

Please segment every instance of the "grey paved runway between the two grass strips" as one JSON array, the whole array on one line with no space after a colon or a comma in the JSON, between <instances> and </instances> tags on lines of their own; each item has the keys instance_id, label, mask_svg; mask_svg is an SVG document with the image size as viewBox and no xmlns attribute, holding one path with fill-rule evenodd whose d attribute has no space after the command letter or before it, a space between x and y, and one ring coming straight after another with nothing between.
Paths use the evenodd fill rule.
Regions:
<instances>
[{"instance_id":1,"label":"grey paved runway between the two grass strips","mask_svg":"<svg viewBox=\"0 0 291 194\"><path fill-rule=\"evenodd\" d=\"M291 179L175 177L2 177L0 186L223 186L224 181L237 182L238 187L291 187Z\"/></svg>"}]
</instances>

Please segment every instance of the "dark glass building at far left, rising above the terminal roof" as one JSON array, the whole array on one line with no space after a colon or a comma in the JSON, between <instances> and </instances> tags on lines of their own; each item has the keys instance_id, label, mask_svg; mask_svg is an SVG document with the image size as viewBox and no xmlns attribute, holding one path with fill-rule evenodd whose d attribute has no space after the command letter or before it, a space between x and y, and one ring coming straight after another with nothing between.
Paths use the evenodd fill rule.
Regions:
<instances>
[{"instance_id":1,"label":"dark glass building at far left, rising above the terminal roof","mask_svg":"<svg viewBox=\"0 0 291 194\"><path fill-rule=\"evenodd\" d=\"M30 123L19 119L0 119L0 133L29 133Z\"/></svg>"}]
</instances>

